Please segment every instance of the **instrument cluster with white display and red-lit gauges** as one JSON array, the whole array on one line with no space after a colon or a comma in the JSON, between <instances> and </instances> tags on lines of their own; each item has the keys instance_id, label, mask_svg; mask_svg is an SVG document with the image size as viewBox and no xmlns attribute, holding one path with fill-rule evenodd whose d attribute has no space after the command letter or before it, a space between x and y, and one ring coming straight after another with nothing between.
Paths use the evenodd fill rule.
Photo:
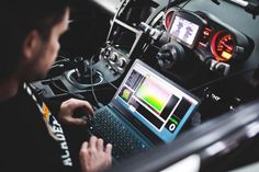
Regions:
<instances>
[{"instance_id":1,"label":"instrument cluster with white display and red-lit gauges","mask_svg":"<svg viewBox=\"0 0 259 172\"><path fill-rule=\"evenodd\" d=\"M202 60L232 64L248 57L252 42L241 32L202 11L170 8L162 18L165 30Z\"/></svg>"}]
</instances>

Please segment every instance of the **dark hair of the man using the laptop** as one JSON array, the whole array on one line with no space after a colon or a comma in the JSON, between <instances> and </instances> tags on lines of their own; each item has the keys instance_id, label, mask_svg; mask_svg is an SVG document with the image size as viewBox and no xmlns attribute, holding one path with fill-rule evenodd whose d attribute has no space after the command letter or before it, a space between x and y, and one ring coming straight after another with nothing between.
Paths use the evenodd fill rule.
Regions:
<instances>
[{"instance_id":1,"label":"dark hair of the man using the laptop","mask_svg":"<svg viewBox=\"0 0 259 172\"><path fill-rule=\"evenodd\" d=\"M0 83L20 64L25 36L37 30L43 39L60 22L68 0L3 0L0 2Z\"/></svg>"}]
</instances>

